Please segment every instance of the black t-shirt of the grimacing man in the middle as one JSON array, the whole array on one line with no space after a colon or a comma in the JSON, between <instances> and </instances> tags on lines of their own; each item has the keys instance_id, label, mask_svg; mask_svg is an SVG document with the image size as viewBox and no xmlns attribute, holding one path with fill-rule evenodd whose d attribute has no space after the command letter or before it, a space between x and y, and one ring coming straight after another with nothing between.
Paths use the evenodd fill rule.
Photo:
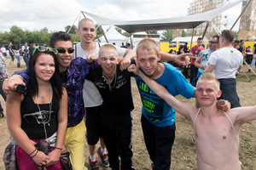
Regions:
<instances>
[{"instance_id":1,"label":"black t-shirt of the grimacing man in the middle","mask_svg":"<svg viewBox=\"0 0 256 170\"><path fill-rule=\"evenodd\" d=\"M86 76L96 85L103 99L103 110L108 114L125 114L134 109L131 97L131 76L127 70L120 71L117 65L116 77L111 84L104 79L102 67L97 67Z\"/></svg>"}]
</instances>

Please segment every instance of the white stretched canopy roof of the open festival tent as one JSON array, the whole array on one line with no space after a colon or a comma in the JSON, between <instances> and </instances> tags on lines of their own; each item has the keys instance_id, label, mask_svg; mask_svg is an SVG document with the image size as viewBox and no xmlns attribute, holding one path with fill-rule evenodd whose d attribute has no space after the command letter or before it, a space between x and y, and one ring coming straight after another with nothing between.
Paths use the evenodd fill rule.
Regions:
<instances>
[{"instance_id":1,"label":"white stretched canopy roof of the open festival tent","mask_svg":"<svg viewBox=\"0 0 256 170\"><path fill-rule=\"evenodd\" d=\"M84 16L90 16L93 20L96 20L97 24L100 26L118 26L119 28L130 33L138 31L160 31L189 28L194 29L196 26L201 25L203 22L213 20L218 14L221 14L225 10L234 7L238 3L241 3L241 0L201 14L192 14L177 18L156 20L113 20L84 11L82 11L82 14L84 14Z\"/></svg>"}]
</instances>

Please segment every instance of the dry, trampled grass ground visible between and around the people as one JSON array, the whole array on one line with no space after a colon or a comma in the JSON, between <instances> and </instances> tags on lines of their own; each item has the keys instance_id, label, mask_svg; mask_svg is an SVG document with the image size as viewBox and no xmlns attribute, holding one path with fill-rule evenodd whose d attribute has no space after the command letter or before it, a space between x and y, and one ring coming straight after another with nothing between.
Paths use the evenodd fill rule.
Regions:
<instances>
[{"instance_id":1,"label":"dry, trampled grass ground visible between and around the people","mask_svg":"<svg viewBox=\"0 0 256 170\"><path fill-rule=\"evenodd\" d=\"M9 65L9 60L7 59L7 66L9 75L14 71L25 69L25 64L23 59L21 59L21 68L17 68L17 65ZM15 60L16 61L16 60ZM247 75L247 76L246 76ZM249 77L251 81L247 78ZM242 106L256 105L256 77L253 73L247 72L247 65L243 65L241 73L237 78L237 93L241 100ZM133 161L134 167L136 169L149 170L151 169L151 161L148 157L148 152L145 148L143 141L142 127L140 123L141 117L141 100L137 91L137 86L134 79L132 79L132 94L133 103L135 109L133 111L133 136L132 136L132 150L133 150ZM180 99L190 105L195 104L195 99L184 99L181 96L177 96ZM5 110L5 102L1 98L1 104ZM5 113L5 111L4 111ZM172 147L172 168L173 170L178 169L196 169L196 156L195 156L195 145L191 142L193 139L193 130L190 127L189 122L177 114L176 118L176 139ZM0 119L0 129L2 130L2 137L0 139L0 169L4 169L3 165L3 151L5 147L9 144L9 131L7 128L6 118ZM248 122L242 125L240 133L240 160L242 162L242 169L253 170L256 169L256 122ZM209 153L211 154L211 153ZM85 144L85 165L88 166L88 147ZM106 169L100 167L100 169Z\"/></svg>"}]
</instances>

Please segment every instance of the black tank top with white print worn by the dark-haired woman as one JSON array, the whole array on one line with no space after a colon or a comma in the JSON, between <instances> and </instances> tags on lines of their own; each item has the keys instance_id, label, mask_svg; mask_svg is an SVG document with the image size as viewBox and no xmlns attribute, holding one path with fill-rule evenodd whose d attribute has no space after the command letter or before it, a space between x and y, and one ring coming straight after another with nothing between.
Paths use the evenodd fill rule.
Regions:
<instances>
[{"instance_id":1,"label":"black tank top with white print worn by the dark-haired woman","mask_svg":"<svg viewBox=\"0 0 256 170\"><path fill-rule=\"evenodd\" d=\"M49 112L49 104L34 103L32 97L28 94L24 96L20 105L21 112L21 128L25 131L29 139L45 139L44 123L49 138L58 128L57 113L59 111L59 98L55 90L53 91L51 111ZM44 123L43 123L44 122Z\"/></svg>"}]
</instances>

